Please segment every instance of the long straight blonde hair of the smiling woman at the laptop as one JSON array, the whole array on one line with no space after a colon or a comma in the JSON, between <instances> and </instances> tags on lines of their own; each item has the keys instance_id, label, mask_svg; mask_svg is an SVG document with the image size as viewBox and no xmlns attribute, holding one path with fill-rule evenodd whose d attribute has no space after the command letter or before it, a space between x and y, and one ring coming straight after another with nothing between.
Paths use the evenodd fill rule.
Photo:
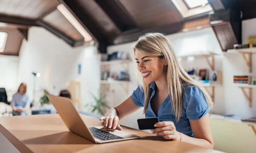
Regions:
<instances>
[{"instance_id":1,"label":"long straight blonde hair of the smiling woman at the laptop","mask_svg":"<svg viewBox=\"0 0 256 153\"><path fill-rule=\"evenodd\" d=\"M191 77L189 77L186 71L181 67L172 48L171 42L163 34L148 33L141 36L135 43L133 50L134 58L135 50L139 50L146 54L158 56L159 58L164 57L166 59L168 64L164 69L167 84L166 88L170 94L170 99L172 99L172 108L175 112L177 122L179 121L182 112L182 94L183 88L186 85L194 85L198 87L207 99L209 108L212 108L213 103L211 96L204 88L200 87ZM145 113L150 99L149 87L151 84L146 84L141 73L139 73L139 75L140 76L137 76L137 78L140 89L143 90L145 94L145 105L143 111L143 113Z\"/></svg>"}]
</instances>

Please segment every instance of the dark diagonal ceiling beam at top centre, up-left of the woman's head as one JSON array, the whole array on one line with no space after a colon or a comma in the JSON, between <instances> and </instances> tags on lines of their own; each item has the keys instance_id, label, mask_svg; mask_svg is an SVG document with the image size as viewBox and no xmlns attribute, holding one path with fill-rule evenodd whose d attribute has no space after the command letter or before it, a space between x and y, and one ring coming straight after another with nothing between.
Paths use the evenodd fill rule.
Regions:
<instances>
[{"instance_id":1,"label":"dark diagonal ceiling beam at top centre, up-left of the woman's head","mask_svg":"<svg viewBox=\"0 0 256 153\"><path fill-rule=\"evenodd\" d=\"M128 11L119 3L118 0L94 0L120 31L136 29L138 26L128 13Z\"/></svg>"}]
</instances>

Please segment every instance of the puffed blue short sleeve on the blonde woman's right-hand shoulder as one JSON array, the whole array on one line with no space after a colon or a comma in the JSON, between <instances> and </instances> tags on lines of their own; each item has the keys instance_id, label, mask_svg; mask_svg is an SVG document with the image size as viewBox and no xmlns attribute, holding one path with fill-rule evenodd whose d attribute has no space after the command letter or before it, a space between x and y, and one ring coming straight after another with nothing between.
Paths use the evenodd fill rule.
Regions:
<instances>
[{"instance_id":1,"label":"puffed blue short sleeve on the blonde woman's right-hand shoulder","mask_svg":"<svg viewBox=\"0 0 256 153\"><path fill-rule=\"evenodd\" d=\"M203 92L196 86L191 86L185 90L183 104L188 119L200 119L210 111Z\"/></svg>"}]
</instances>

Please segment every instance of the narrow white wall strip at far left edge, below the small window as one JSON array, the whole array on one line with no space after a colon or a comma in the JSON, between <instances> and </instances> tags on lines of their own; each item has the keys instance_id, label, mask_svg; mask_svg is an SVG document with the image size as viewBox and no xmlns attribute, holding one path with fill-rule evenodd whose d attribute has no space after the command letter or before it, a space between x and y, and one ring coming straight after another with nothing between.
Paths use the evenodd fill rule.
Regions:
<instances>
[{"instance_id":1,"label":"narrow white wall strip at far left edge, below the small window","mask_svg":"<svg viewBox=\"0 0 256 153\"><path fill-rule=\"evenodd\" d=\"M6 88L8 101L17 91L19 58L17 56L0 55L0 88Z\"/></svg>"}]
</instances>

